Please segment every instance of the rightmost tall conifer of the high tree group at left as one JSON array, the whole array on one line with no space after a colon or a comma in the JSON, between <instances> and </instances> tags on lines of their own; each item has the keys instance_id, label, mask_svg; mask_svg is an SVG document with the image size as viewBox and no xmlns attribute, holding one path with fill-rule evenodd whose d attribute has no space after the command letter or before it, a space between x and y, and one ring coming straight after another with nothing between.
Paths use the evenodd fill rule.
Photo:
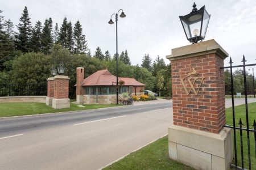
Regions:
<instances>
[{"instance_id":1,"label":"rightmost tall conifer of the high tree group at left","mask_svg":"<svg viewBox=\"0 0 256 170\"><path fill-rule=\"evenodd\" d=\"M87 41L85 40L85 35L82 35L82 25L79 20L76 22L74 31L74 53L75 54L85 54L88 52Z\"/></svg>"}]
</instances>

